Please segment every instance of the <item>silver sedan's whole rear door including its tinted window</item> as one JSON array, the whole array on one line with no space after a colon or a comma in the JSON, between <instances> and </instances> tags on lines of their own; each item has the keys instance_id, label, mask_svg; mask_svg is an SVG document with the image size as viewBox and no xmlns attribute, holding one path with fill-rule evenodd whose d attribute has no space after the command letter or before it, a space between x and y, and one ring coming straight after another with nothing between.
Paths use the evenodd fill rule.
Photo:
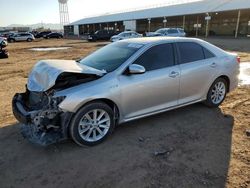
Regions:
<instances>
[{"instance_id":1,"label":"silver sedan's whole rear door including its tinted window","mask_svg":"<svg viewBox=\"0 0 250 188\"><path fill-rule=\"evenodd\" d=\"M177 47L181 72L179 103L200 100L216 75L216 57L198 43L178 42Z\"/></svg>"}]
</instances>

